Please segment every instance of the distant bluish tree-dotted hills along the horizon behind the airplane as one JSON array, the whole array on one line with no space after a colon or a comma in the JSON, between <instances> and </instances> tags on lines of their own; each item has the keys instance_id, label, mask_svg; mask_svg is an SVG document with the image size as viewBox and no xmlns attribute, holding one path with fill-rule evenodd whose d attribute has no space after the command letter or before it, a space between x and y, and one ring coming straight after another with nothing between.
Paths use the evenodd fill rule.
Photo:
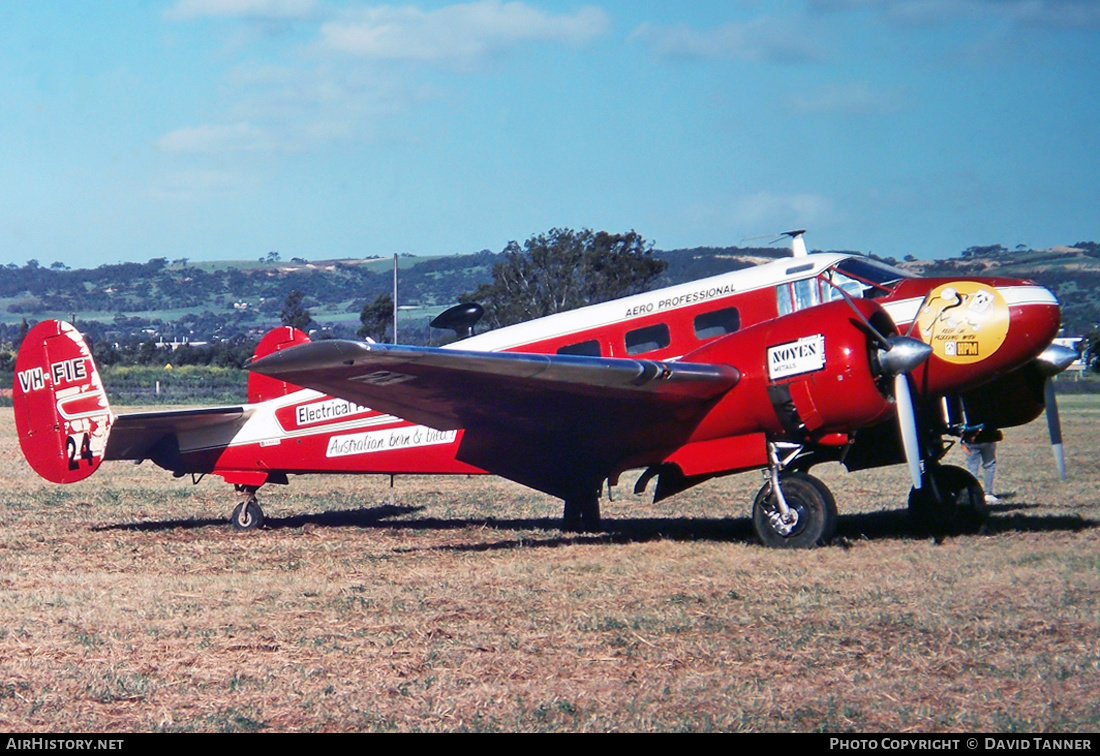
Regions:
<instances>
[{"instance_id":1,"label":"distant bluish tree-dotted hills along the horizon behind the airplane","mask_svg":"<svg viewBox=\"0 0 1100 756\"><path fill-rule=\"evenodd\" d=\"M658 286L683 283L782 258L779 248L657 250L669 261ZM427 322L463 293L491 281L497 253L418 258L399 263L402 340L426 342ZM1063 303L1067 333L1100 322L1100 244L1048 250L974 246L955 258L915 260L901 267L922 275L1007 275L1033 278ZM292 262L190 263L158 258L68 270L34 261L0 269L0 341L16 338L21 321L73 319L95 339L111 342L255 339L278 322L287 295L299 289L322 329L351 336L363 305L393 288L393 258Z\"/></svg>"}]
</instances>

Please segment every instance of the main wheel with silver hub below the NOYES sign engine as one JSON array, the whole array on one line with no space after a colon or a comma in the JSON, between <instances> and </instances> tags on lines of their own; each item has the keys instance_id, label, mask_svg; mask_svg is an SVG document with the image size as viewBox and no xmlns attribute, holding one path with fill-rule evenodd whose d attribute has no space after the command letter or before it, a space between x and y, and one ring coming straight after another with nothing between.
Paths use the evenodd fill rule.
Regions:
<instances>
[{"instance_id":1,"label":"main wheel with silver hub below the NOYES sign engine","mask_svg":"<svg viewBox=\"0 0 1100 756\"><path fill-rule=\"evenodd\" d=\"M813 475L789 472L780 487L790 517L783 518L779 502L765 484L752 503L752 528L765 546L779 549L810 549L836 533L836 501L828 487Z\"/></svg>"}]
</instances>

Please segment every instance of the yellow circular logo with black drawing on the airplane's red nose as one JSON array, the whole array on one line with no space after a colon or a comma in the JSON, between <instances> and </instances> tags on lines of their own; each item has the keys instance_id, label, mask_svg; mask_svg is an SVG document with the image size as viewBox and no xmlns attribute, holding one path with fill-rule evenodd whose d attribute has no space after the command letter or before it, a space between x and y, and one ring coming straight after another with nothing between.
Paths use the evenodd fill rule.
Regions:
<instances>
[{"instance_id":1,"label":"yellow circular logo with black drawing on the airplane's red nose","mask_svg":"<svg viewBox=\"0 0 1100 756\"><path fill-rule=\"evenodd\" d=\"M932 289L916 316L921 339L947 362L981 362L1004 343L1009 306L992 286L958 281Z\"/></svg>"}]
</instances>

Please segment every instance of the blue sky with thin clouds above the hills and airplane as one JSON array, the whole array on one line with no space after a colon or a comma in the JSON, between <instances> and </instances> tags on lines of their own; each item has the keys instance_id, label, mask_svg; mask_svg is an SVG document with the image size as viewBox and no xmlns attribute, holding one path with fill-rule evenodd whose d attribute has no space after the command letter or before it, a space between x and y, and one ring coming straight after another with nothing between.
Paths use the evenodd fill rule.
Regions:
<instances>
[{"instance_id":1,"label":"blue sky with thin clouds above the hills and airplane","mask_svg":"<svg viewBox=\"0 0 1100 756\"><path fill-rule=\"evenodd\" d=\"M0 4L0 264L1100 240L1093 0Z\"/></svg>"}]
</instances>

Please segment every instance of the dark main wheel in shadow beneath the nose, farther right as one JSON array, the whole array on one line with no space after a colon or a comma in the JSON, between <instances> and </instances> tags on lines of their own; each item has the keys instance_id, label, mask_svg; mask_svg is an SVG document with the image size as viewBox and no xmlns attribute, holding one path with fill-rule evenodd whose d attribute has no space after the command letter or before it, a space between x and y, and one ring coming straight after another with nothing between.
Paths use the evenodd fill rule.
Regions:
<instances>
[{"instance_id":1,"label":"dark main wheel in shadow beneath the nose, farther right","mask_svg":"<svg viewBox=\"0 0 1100 756\"><path fill-rule=\"evenodd\" d=\"M963 468L930 465L921 487L909 492L909 517L919 533L977 533L988 516L981 484Z\"/></svg>"}]
</instances>

